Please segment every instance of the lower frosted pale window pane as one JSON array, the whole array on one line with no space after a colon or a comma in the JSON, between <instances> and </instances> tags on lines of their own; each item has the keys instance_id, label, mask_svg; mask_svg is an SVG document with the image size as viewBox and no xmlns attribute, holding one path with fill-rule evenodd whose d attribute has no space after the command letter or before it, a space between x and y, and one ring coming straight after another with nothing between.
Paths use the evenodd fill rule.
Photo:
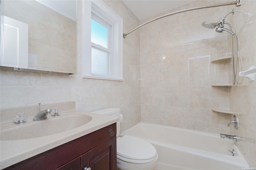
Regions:
<instances>
[{"instance_id":1,"label":"lower frosted pale window pane","mask_svg":"<svg viewBox=\"0 0 256 170\"><path fill-rule=\"evenodd\" d=\"M92 73L110 75L109 59L110 53L92 47Z\"/></svg>"}]
</instances>

